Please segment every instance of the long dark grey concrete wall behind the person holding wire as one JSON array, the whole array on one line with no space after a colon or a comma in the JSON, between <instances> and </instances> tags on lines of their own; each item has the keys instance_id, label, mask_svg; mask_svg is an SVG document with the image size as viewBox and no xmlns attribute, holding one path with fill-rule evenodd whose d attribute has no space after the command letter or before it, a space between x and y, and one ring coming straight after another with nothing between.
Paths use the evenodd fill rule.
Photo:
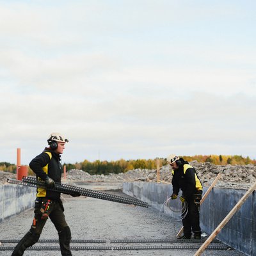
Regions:
<instances>
[{"instance_id":1,"label":"long dark grey concrete wall behind the person holding wire","mask_svg":"<svg viewBox=\"0 0 256 256\"><path fill-rule=\"evenodd\" d=\"M207 189L207 187L204 188L204 193ZM163 207L163 204L172 195L172 185L124 182L123 192L148 202L148 204L159 209L159 211L170 213L168 209ZM207 234L211 234L245 193L246 190L243 189L212 189L200 209L200 225L202 230ZM246 255L256 255L255 214L256 195L254 191L227 225L223 227L217 238Z\"/></svg>"}]
</instances>

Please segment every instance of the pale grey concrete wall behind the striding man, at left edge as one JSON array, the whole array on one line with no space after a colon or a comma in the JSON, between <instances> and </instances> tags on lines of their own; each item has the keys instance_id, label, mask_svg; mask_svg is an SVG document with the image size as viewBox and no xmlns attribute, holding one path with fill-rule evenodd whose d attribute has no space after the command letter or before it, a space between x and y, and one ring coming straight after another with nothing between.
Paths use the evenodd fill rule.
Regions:
<instances>
[{"instance_id":1,"label":"pale grey concrete wall behind the striding man, at left edge","mask_svg":"<svg viewBox=\"0 0 256 256\"><path fill-rule=\"evenodd\" d=\"M36 188L14 184L0 186L0 222L34 207L35 195Z\"/></svg>"}]
</instances>

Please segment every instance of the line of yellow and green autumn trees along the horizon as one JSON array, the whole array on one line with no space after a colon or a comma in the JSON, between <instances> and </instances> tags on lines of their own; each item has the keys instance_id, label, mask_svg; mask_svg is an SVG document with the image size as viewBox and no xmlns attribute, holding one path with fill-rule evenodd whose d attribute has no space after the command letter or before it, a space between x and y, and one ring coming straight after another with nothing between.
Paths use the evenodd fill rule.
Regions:
<instances>
[{"instance_id":1,"label":"line of yellow and green autumn trees along the horizon","mask_svg":"<svg viewBox=\"0 0 256 256\"><path fill-rule=\"evenodd\" d=\"M209 156L180 156L184 158L186 161L198 161L199 163L212 163L217 165L227 165L227 164L256 164L255 159L250 159L250 157L242 157L242 156L223 156L223 155L209 155ZM159 157L159 166L166 165L166 159ZM94 174L104 174L108 175L109 173L124 173L129 170L134 169L156 169L156 159L136 159L136 160L125 160L120 159L117 161L100 161L96 160L90 162L88 160L84 160L80 163L64 163L66 166L67 172L72 169L83 170L84 172L90 173L90 175ZM0 163L0 170L4 172L16 172L16 165L10 164L6 162ZM32 175L33 172L29 168L29 175Z\"/></svg>"}]
</instances>

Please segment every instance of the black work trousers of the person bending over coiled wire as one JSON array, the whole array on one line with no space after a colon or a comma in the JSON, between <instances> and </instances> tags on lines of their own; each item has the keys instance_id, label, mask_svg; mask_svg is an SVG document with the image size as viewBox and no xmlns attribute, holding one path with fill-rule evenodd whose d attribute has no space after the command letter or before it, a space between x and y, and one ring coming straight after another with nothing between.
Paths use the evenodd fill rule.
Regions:
<instances>
[{"instance_id":1,"label":"black work trousers of the person bending over coiled wire","mask_svg":"<svg viewBox=\"0 0 256 256\"><path fill-rule=\"evenodd\" d=\"M182 224L184 227L184 235L186 237L191 237L192 232L195 235L201 235L200 216L199 216L201 199L202 199L202 191L198 191L193 196L186 199L186 202L188 204L188 213L186 217L182 219Z\"/></svg>"}]
</instances>

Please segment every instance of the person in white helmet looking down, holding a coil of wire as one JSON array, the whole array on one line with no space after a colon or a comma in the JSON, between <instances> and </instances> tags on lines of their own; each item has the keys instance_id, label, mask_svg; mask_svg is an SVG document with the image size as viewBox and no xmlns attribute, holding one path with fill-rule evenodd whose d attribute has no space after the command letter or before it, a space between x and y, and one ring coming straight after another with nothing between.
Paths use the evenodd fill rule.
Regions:
<instances>
[{"instance_id":1,"label":"person in white helmet looking down, holding a coil of wire","mask_svg":"<svg viewBox=\"0 0 256 256\"><path fill-rule=\"evenodd\" d=\"M183 158L170 155L166 159L167 163L172 167L172 199L176 199L179 191L182 195L179 197L182 206L186 204L188 212L182 212L182 223L184 227L184 235L178 239L190 239L192 232L194 239L201 239L200 228L200 201L202 199L203 187L198 179L195 168ZM186 216L185 216L186 215Z\"/></svg>"}]
</instances>

